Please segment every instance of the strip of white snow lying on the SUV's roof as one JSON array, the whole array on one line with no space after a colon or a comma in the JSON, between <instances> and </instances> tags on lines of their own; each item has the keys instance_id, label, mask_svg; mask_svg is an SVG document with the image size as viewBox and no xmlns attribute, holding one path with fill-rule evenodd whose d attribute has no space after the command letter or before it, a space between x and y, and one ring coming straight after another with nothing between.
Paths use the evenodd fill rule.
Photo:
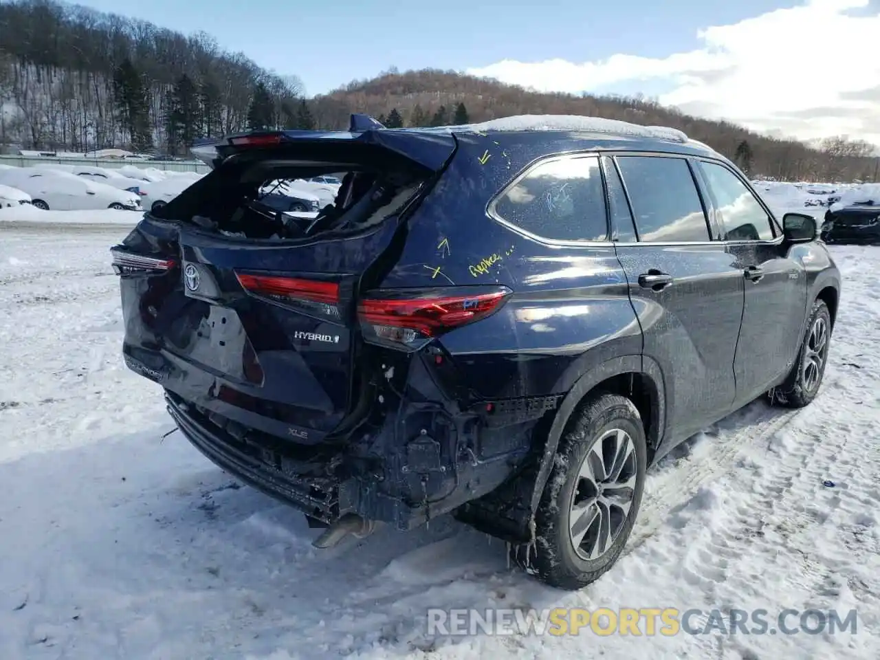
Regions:
<instances>
[{"instance_id":1,"label":"strip of white snow lying on the SUV's roof","mask_svg":"<svg viewBox=\"0 0 880 660\"><path fill-rule=\"evenodd\" d=\"M669 142L687 143L688 137L676 128L665 126L642 126L629 121L586 117L577 114L519 114L483 121L479 124L447 126L451 132L488 133L490 131L509 132L517 130L568 130L585 133L606 133L615 136L645 137Z\"/></svg>"}]
</instances>

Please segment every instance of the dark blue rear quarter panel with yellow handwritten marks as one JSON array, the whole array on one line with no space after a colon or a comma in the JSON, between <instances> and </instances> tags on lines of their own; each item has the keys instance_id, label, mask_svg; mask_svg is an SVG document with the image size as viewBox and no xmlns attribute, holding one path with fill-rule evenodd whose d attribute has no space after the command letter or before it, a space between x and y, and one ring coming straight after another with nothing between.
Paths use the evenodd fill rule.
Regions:
<instances>
[{"instance_id":1,"label":"dark blue rear quarter panel with yellow handwritten marks","mask_svg":"<svg viewBox=\"0 0 880 660\"><path fill-rule=\"evenodd\" d=\"M459 136L455 158L411 219L400 259L380 286L509 287L514 294L500 312L444 334L442 346L481 397L564 393L611 357L640 356L642 334L612 244L547 245L487 213L526 165L592 143L505 137Z\"/></svg>"}]
</instances>

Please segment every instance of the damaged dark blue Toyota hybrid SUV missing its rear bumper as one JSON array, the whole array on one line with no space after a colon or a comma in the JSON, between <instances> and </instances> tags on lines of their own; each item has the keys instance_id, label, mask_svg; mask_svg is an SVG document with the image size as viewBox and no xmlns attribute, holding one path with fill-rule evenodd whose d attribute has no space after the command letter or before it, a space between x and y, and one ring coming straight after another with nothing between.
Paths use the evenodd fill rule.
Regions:
<instances>
[{"instance_id":1,"label":"damaged dark blue Toyota hybrid SUV missing its rear bumper","mask_svg":"<svg viewBox=\"0 0 880 660\"><path fill-rule=\"evenodd\" d=\"M671 129L517 117L251 133L113 248L128 367L189 441L334 545L451 512L576 589L649 465L825 370L840 274ZM264 181L348 172L282 222Z\"/></svg>"}]
</instances>

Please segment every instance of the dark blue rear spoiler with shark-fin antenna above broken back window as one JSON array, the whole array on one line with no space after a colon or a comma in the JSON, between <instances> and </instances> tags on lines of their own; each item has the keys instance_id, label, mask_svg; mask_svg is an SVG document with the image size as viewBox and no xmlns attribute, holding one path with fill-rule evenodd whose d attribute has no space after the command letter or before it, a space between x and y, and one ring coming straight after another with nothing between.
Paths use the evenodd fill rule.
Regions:
<instances>
[{"instance_id":1,"label":"dark blue rear spoiler with shark-fin antenna above broken back window","mask_svg":"<svg viewBox=\"0 0 880 660\"><path fill-rule=\"evenodd\" d=\"M217 139L202 140L192 148L193 155L211 169L233 154L251 149L285 148L314 152L321 144L344 143L374 145L399 154L432 172L441 170L455 151L456 140L451 134L422 132L412 129L385 128L366 114L352 114L348 131L278 130L251 131Z\"/></svg>"}]
</instances>

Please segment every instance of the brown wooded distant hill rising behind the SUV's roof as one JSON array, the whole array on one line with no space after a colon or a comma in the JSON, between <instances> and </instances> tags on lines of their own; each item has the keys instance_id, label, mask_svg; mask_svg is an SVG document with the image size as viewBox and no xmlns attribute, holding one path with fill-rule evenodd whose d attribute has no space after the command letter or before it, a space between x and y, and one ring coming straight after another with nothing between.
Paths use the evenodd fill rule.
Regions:
<instances>
[{"instance_id":1,"label":"brown wooded distant hill rising behind the SUV's roof","mask_svg":"<svg viewBox=\"0 0 880 660\"><path fill-rule=\"evenodd\" d=\"M793 140L759 135L725 121L710 121L649 99L573 96L530 92L495 80L451 71L421 70L386 73L355 81L313 100L319 124L342 128L356 110L387 117L396 110L404 125L429 125L439 112L441 122L452 123L458 104L469 121L485 121L511 114L585 114L637 124L670 126L708 143L749 170L752 175L781 180L875 180L873 145L829 138L819 148Z\"/></svg>"}]
</instances>

